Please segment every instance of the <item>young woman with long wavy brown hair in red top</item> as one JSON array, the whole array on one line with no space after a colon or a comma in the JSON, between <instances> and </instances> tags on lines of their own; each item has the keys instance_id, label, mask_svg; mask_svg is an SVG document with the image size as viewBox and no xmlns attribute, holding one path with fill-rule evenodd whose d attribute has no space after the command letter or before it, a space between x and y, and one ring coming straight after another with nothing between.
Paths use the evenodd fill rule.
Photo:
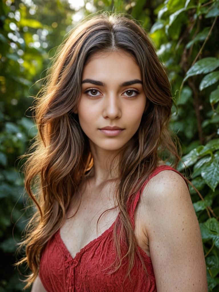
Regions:
<instances>
[{"instance_id":1,"label":"young woman with long wavy brown hair in red top","mask_svg":"<svg viewBox=\"0 0 219 292\"><path fill-rule=\"evenodd\" d=\"M207 291L198 220L175 170L172 102L151 41L127 15L86 19L60 46L25 164L38 210L17 264L32 270L32 292Z\"/></svg>"}]
</instances>

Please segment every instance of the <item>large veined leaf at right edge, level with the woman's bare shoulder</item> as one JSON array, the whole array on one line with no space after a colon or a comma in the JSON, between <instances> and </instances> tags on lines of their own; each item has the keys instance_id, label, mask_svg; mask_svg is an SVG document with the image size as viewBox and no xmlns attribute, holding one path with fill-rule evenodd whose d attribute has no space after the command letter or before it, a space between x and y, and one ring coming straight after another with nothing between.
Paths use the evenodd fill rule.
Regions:
<instances>
[{"instance_id":1,"label":"large veined leaf at right edge, level with the woman's bare shoulder","mask_svg":"<svg viewBox=\"0 0 219 292\"><path fill-rule=\"evenodd\" d=\"M201 176L206 184L215 191L215 187L219 183L219 157L215 157L213 161L209 161L204 165L201 171Z\"/></svg>"}]
</instances>

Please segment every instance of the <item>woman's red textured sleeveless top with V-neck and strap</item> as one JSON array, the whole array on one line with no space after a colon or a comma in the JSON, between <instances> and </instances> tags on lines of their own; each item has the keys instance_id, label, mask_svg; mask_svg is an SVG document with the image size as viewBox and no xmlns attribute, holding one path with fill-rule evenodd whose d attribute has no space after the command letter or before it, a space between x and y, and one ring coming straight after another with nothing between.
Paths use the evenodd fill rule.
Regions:
<instances>
[{"instance_id":1,"label":"woman's red textured sleeveless top with V-neck and strap","mask_svg":"<svg viewBox=\"0 0 219 292\"><path fill-rule=\"evenodd\" d=\"M131 208L128 210L133 226L135 226L134 210L138 203L141 190L150 178L162 170L173 170L179 173L174 168L167 165L157 166L154 172L142 184L142 187L136 193L135 200L133 201ZM184 178L181 173L179 174ZM119 215L117 216L117 219L118 217ZM60 237L60 230L58 230L46 244L40 262L39 277L46 291L157 292L151 258L139 246L137 246L137 248L142 255L149 275L145 273L137 253L133 268L130 272L133 284L131 283L129 277L127 277L123 283L124 276L128 271L127 258L124 261L124 265L121 265L120 268L113 274L107 275L109 270L102 271L104 268L109 267L109 265L115 260L116 251L112 240L114 223L98 238L92 240L86 246L81 248L74 258L72 258L71 254L67 250Z\"/></svg>"}]
</instances>

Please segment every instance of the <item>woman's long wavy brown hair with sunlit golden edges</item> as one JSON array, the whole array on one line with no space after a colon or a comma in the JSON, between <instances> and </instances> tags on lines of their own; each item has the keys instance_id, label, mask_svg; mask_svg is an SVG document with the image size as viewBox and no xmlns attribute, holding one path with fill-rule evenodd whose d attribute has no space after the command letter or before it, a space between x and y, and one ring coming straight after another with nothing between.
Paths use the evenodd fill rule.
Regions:
<instances>
[{"instance_id":1,"label":"woman's long wavy brown hair with sunlit golden edges","mask_svg":"<svg viewBox=\"0 0 219 292\"><path fill-rule=\"evenodd\" d=\"M24 288L36 279L46 243L61 227L72 196L93 167L88 137L80 127L78 115L73 113L81 96L83 68L94 53L117 50L134 56L141 70L149 106L142 115L138 131L119 156L119 183L114 190L114 208L119 208L120 216L113 229L117 260L109 274L119 269L122 260L128 258L127 275L130 276L135 252L147 273L136 248L128 202L133 202L160 159L173 168L181 160L179 140L169 129L174 98L171 97L166 69L145 29L131 15L101 12L83 19L69 32L58 47L45 83L32 106L38 133L29 151L21 157L25 158L25 189L36 208L25 227L23 241L18 244L19 251L25 249L25 257L14 264L26 263L32 270L24 280L27 282ZM121 256L120 239L127 243L124 256Z\"/></svg>"}]
</instances>

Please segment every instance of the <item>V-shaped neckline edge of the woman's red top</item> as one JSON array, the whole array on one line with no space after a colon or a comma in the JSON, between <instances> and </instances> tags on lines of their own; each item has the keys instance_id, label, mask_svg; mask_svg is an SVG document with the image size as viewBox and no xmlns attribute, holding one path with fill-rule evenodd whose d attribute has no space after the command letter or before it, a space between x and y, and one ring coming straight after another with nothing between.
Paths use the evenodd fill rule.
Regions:
<instances>
[{"instance_id":1,"label":"V-shaped neckline edge of the woman's red top","mask_svg":"<svg viewBox=\"0 0 219 292\"><path fill-rule=\"evenodd\" d=\"M82 247L73 257L70 253L70 251L67 249L67 246L65 245L64 241L62 240L61 234L60 234L60 229L61 227L58 229L57 233L56 233L56 240L58 240L58 243L60 244L60 246L62 247L62 250L65 254L65 256L70 257L72 260L77 260L77 258L81 255L81 253L83 253L84 251L86 251L89 247L91 247L95 242L99 241L104 235L107 234L107 232L109 232L114 224L116 223L118 217L119 217L120 212L118 213L116 219L114 220L114 222L112 223L112 225L107 228L102 234L100 234L97 238L91 240L88 244L86 244L84 247Z\"/></svg>"}]
</instances>

